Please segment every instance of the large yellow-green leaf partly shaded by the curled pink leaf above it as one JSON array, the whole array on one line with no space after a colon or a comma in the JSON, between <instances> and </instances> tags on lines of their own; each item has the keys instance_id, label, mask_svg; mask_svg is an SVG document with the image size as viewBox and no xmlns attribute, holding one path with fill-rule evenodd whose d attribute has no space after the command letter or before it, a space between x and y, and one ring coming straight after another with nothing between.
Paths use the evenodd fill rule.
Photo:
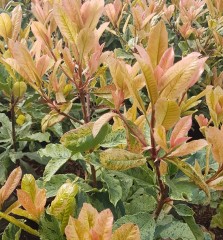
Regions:
<instances>
[{"instance_id":1,"label":"large yellow-green leaf partly shaded by the curled pink leaf above it","mask_svg":"<svg viewBox=\"0 0 223 240\"><path fill-rule=\"evenodd\" d=\"M73 153L85 152L97 147L103 142L109 128L107 124L104 125L94 138L92 134L93 125L94 123L90 122L65 133L61 137L60 142Z\"/></svg>"}]
</instances>

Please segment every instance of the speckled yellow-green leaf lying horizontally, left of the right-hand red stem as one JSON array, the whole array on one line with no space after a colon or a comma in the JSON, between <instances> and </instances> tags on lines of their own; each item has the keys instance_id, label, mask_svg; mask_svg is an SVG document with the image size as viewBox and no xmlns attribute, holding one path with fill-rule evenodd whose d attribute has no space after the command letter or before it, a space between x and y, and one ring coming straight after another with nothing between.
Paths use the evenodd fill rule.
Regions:
<instances>
[{"instance_id":1,"label":"speckled yellow-green leaf lying horizontally, left of the right-hand red stem","mask_svg":"<svg viewBox=\"0 0 223 240\"><path fill-rule=\"evenodd\" d=\"M146 163L146 157L123 149L108 149L100 153L100 161L111 170L127 170Z\"/></svg>"}]
</instances>

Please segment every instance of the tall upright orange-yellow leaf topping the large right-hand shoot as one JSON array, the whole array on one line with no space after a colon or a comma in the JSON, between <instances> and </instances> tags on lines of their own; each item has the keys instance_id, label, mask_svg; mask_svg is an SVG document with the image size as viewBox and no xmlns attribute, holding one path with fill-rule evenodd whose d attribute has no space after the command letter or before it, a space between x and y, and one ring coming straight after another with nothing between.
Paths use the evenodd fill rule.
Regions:
<instances>
[{"instance_id":1,"label":"tall upright orange-yellow leaf topping the large right-hand shoot","mask_svg":"<svg viewBox=\"0 0 223 240\"><path fill-rule=\"evenodd\" d=\"M168 48L168 33L165 23L160 21L149 33L147 52L150 56L153 68L155 68L162 55Z\"/></svg>"}]
</instances>

